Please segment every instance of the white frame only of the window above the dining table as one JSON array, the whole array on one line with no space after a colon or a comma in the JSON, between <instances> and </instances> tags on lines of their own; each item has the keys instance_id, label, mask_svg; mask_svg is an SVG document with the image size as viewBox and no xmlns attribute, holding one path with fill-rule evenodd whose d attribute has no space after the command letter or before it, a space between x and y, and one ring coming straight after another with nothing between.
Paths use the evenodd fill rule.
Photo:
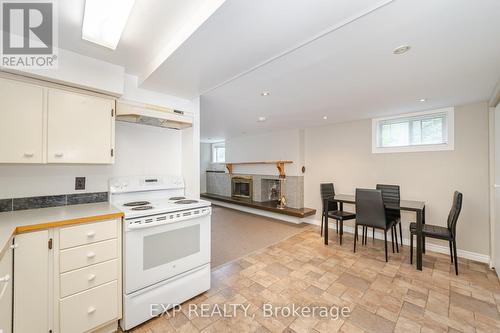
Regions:
<instances>
[{"instance_id":1,"label":"white frame only of the window above the dining table","mask_svg":"<svg viewBox=\"0 0 500 333\"><path fill-rule=\"evenodd\" d=\"M445 114L445 135L447 135L446 143L438 144L417 144L397 147L379 147L379 124L387 120L404 120L411 117L427 116L432 114ZM411 133L411 132L410 132ZM410 136L410 135L409 135ZM455 149L455 108L442 108L420 112L412 112L406 114L399 114L397 116L373 118L372 119L372 153L406 153L406 152L424 152L424 151L446 151Z\"/></svg>"}]
</instances>

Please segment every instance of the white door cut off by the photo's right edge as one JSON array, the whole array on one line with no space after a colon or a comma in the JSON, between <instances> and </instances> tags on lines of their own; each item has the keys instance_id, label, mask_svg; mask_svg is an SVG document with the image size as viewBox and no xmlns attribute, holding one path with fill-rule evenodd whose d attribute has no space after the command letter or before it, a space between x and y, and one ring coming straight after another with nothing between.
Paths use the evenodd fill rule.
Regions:
<instances>
[{"instance_id":1,"label":"white door cut off by the photo's right edge","mask_svg":"<svg viewBox=\"0 0 500 333\"><path fill-rule=\"evenodd\" d=\"M494 251L494 265L497 275L500 277L500 104L497 105L494 114L494 228L493 228L493 251Z\"/></svg>"}]
</instances>

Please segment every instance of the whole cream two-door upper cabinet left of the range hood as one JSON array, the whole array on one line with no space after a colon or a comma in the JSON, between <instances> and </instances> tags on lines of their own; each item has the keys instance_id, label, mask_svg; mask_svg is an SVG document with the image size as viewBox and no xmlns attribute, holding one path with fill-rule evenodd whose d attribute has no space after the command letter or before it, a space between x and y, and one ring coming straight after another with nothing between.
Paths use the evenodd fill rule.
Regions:
<instances>
[{"instance_id":1,"label":"whole cream two-door upper cabinet left of the range hood","mask_svg":"<svg viewBox=\"0 0 500 333\"><path fill-rule=\"evenodd\" d=\"M11 77L0 77L0 163L114 163L114 98Z\"/></svg>"}]
</instances>

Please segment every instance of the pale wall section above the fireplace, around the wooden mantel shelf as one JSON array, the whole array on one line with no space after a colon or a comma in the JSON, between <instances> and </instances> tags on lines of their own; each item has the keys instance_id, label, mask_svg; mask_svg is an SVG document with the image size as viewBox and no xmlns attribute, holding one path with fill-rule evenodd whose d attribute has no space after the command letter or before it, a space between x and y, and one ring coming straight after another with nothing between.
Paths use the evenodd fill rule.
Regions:
<instances>
[{"instance_id":1,"label":"pale wall section above the fireplace, around the wooden mantel shelf","mask_svg":"<svg viewBox=\"0 0 500 333\"><path fill-rule=\"evenodd\" d=\"M304 133L302 130L283 130L248 135L226 140L227 162L290 160L285 166L289 176L300 176L304 164ZM275 165L234 166L234 173L278 174Z\"/></svg>"}]
</instances>

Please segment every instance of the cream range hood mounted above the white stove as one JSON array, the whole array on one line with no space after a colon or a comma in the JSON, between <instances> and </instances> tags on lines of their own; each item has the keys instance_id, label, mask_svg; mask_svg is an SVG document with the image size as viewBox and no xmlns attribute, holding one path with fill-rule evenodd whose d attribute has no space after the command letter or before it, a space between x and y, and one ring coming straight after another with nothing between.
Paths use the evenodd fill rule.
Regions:
<instances>
[{"instance_id":1,"label":"cream range hood mounted above the white stove","mask_svg":"<svg viewBox=\"0 0 500 333\"><path fill-rule=\"evenodd\" d=\"M116 102L116 120L173 129L193 126L193 117L186 112L125 100Z\"/></svg>"}]
</instances>

